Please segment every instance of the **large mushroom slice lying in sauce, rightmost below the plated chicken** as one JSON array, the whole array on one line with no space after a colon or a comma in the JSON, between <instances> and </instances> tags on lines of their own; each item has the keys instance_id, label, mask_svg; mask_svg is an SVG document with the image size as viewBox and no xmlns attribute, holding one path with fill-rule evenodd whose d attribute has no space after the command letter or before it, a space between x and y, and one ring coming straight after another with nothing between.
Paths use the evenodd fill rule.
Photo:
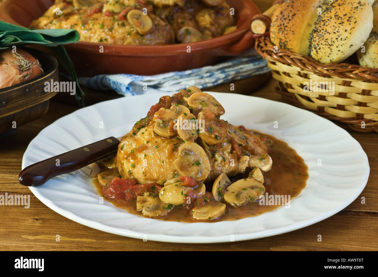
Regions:
<instances>
[{"instance_id":1,"label":"large mushroom slice lying in sauce, rightmost below the plated chicken","mask_svg":"<svg viewBox=\"0 0 378 277\"><path fill-rule=\"evenodd\" d=\"M256 201L265 192L265 187L258 181L247 178L236 181L227 187L223 199L231 206L239 207Z\"/></svg>"}]
</instances>

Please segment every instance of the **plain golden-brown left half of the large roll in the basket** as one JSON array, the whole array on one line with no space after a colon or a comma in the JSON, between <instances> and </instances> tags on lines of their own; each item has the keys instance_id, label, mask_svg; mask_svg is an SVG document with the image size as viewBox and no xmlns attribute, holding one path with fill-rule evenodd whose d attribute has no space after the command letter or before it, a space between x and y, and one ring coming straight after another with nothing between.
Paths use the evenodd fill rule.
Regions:
<instances>
[{"instance_id":1,"label":"plain golden-brown left half of the large roll in the basket","mask_svg":"<svg viewBox=\"0 0 378 277\"><path fill-rule=\"evenodd\" d=\"M324 0L289 0L277 7L271 18L270 39L279 48L309 55L311 34Z\"/></svg>"}]
</instances>

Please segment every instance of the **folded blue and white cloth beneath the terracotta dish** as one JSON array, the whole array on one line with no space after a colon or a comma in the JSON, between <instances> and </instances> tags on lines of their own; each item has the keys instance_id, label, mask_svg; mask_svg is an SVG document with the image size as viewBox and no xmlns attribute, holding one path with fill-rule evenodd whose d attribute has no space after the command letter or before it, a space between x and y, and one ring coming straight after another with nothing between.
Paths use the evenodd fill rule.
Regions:
<instances>
[{"instance_id":1,"label":"folded blue and white cloth beneath the terracotta dish","mask_svg":"<svg viewBox=\"0 0 378 277\"><path fill-rule=\"evenodd\" d=\"M157 91L175 92L190 86L204 89L268 71L270 68L266 61L260 56L253 56L237 57L213 66L152 76L113 74L81 77L78 80L85 87L96 90L113 89L121 95L129 96Z\"/></svg>"}]
</instances>

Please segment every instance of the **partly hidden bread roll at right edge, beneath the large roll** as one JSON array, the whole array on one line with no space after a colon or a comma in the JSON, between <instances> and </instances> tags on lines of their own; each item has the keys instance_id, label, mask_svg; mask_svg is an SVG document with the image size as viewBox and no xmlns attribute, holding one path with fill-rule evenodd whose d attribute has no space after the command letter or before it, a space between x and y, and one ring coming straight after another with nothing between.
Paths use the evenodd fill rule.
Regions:
<instances>
[{"instance_id":1,"label":"partly hidden bread roll at right edge, beneath the large roll","mask_svg":"<svg viewBox=\"0 0 378 277\"><path fill-rule=\"evenodd\" d=\"M358 63L361 67L378 68L378 34L372 32L364 43L365 53L357 50Z\"/></svg>"}]
</instances>

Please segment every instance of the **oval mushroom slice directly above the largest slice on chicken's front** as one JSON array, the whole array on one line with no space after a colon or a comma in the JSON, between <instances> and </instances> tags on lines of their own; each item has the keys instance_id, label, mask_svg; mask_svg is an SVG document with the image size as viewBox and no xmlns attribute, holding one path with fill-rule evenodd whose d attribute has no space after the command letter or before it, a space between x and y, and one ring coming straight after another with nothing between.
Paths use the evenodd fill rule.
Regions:
<instances>
[{"instance_id":1,"label":"oval mushroom slice directly above the largest slice on chicken's front","mask_svg":"<svg viewBox=\"0 0 378 277\"><path fill-rule=\"evenodd\" d=\"M177 118L176 130L177 134L183 141L194 142L198 138L200 133L200 127L198 120L191 113L183 113Z\"/></svg>"}]
</instances>

